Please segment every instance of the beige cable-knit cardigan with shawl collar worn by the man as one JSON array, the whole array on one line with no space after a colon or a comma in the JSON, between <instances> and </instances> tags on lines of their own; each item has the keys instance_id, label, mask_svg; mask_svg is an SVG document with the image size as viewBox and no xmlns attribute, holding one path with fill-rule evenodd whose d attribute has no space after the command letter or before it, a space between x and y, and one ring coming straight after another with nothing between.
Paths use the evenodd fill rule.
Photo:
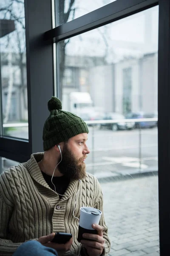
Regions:
<instances>
[{"instance_id":1,"label":"beige cable-knit cardigan with shawl collar worn by the man","mask_svg":"<svg viewBox=\"0 0 170 256\"><path fill-rule=\"evenodd\" d=\"M77 241L79 223L73 216L74 202L77 201L74 215L78 218L82 206L95 207L103 212L99 182L87 173L82 183L72 180L59 200L37 164L42 157L43 153L32 154L28 162L13 166L0 176L0 255L12 255L24 241L52 232L73 234L74 241L67 255L87 255ZM104 227L103 255L107 255L110 241L103 215L100 225Z\"/></svg>"}]
</instances>

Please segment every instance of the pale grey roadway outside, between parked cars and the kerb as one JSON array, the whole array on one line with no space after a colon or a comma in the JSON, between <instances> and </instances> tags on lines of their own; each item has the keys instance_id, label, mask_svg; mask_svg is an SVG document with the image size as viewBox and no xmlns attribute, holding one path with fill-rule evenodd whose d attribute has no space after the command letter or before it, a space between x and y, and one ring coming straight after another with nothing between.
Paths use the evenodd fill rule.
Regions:
<instances>
[{"instance_id":1,"label":"pale grey roadway outside, between parked cars and the kerb","mask_svg":"<svg viewBox=\"0 0 170 256\"><path fill-rule=\"evenodd\" d=\"M139 134L141 132L141 137ZM90 128L88 146L91 154L87 170L96 177L133 174L158 170L158 131L135 129L111 131ZM141 162L141 164L140 164Z\"/></svg>"}]
</instances>

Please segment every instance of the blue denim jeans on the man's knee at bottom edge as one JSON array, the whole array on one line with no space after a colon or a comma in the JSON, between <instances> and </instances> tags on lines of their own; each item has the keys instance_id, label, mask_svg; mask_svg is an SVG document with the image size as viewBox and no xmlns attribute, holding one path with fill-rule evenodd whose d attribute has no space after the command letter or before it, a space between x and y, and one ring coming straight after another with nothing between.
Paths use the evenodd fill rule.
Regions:
<instances>
[{"instance_id":1,"label":"blue denim jeans on the man's knee at bottom edge","mask_svg":"<svg viewBox=\"0 0 170 256\"><path fill-rule=\"evenodd\" d=\"M53 248L43 246L38 241L28 241L21 244L13 256L58 256Z\"/></svg>"}]
</instances>

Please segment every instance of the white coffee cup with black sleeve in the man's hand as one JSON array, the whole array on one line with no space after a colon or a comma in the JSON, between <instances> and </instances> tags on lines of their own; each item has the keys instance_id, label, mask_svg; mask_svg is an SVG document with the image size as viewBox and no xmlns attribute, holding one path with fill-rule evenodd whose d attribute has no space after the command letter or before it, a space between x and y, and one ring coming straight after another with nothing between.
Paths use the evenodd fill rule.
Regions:
<instances>
[{"instance_id":1,"label":"white coffee cup with black sleeve in the man's hand","mask_svg":"<svg viewBox=\"0 0 170 256\"><path fill-rule=\"evenodd\" d=\"M97 234L97 230L92 227L92 224L99 224L102 212L93 207L81 207L79 218L79 230L77 241L91 240L82 237L83 233Z\"/></svg>"}]
</instances>

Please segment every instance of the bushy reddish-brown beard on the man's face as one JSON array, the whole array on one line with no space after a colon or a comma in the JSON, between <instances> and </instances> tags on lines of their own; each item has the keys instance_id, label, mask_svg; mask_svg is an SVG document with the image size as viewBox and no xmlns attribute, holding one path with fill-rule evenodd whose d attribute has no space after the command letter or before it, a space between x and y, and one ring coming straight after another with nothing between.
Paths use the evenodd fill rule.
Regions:
<instances>
[{"instance_id":1,"label":"bushy reddish-brown beard on the man's face","mask_svg":"<svg viewBox=\"0 0 170 256\"><path fill-rule=\"evenodd\" d=\"M65 143L62 150L62 161L58 165L59 172L73 180L82 180L86 175L83 158L85 157L81 157L77 160L68 148L67 143Z\"/></svg>"}]
</instances>

